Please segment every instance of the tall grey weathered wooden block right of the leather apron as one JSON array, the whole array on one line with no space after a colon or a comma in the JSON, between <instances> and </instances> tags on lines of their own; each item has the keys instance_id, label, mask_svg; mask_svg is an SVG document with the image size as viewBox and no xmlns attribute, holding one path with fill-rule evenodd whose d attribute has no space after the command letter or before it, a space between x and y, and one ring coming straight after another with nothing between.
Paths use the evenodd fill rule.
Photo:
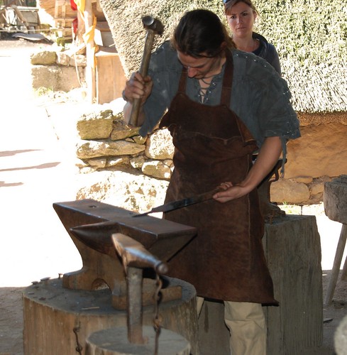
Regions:
<instances>
[{"instance_id":1,"label":"tall grey weathered wooden block right of the leather apron","mask_svg":"<svg viewBox=\"0 0 347 355\"><path fill-rule=\"evenodd\" d=\"M279 307L266 307L268 355L304 354L323 341L321 245L316 217L265 225L265 256Z\"/></svg>"}]
</instances>

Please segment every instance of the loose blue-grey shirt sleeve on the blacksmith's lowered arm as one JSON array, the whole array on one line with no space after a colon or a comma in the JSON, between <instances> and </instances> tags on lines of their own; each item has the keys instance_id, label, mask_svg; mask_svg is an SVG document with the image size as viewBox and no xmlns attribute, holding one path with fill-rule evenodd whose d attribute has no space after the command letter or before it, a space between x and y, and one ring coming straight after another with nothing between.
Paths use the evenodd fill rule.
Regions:
<instances>
[{"instance_id":1,"label":"loose blue-grey shirt sleeve on the blacksmith's lowered arm","mask_svg":"<svg viewBox=\"0 0 347 355\"><path fill-rule=\"evenodd\" d=\"M246 124L258 146L271 136L299 138L299 120L287 82L262 58L235 52L231 109Z\"/></svg>"}]
</instances>

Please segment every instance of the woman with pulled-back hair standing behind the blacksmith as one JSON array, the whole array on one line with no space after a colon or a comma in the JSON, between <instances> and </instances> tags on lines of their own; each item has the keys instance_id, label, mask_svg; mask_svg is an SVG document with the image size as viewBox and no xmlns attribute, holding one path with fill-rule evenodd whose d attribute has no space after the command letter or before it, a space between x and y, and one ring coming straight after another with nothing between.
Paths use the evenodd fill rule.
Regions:
<instances>
[{"instance_id":1,"label":"woman with pulled-back hair standing behind the blacksmith","mask_svg":"<svg viewBox=\"0 0 347 355\"><path fill-rule=\"evenodd\" d=\"M232 32L233 42L239 50L264 58L281 75L280 58L274 45L253 32L258 11L250 0L223 0L224 11Z\"/></svg>"}]
</instances>

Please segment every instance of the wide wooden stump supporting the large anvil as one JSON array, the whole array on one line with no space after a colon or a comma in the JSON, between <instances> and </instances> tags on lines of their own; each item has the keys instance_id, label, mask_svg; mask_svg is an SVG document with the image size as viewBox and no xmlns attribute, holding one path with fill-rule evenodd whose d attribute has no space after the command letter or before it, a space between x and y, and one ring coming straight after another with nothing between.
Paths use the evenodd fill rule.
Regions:
<instances>
[{"instance_id":1,"label":"wide wooden stump supporting the large anvil","mask_svg":"<svg viewBox=\"0 0 347 355\"><path fill-rule=\"evenodd\" d=\"M195 289L175 278L182 286L182 299L163 302L159 312L162 327L181 334L199 354L197 344L197 302ZM61 279L31 285L23 293L24 353L35 355L77 354L86 349L90 334L113 327L126 327L126 310L111 305L111 290L70 290ZM143 324L153 326L154 306L143 307Z\"/></svg>"}]
</instances>

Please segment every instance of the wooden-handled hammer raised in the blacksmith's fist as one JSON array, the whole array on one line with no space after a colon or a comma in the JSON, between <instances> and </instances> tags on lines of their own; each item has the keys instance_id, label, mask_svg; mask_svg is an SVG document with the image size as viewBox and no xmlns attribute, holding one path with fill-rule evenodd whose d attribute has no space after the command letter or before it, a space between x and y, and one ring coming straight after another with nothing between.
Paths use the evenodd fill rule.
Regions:
<instances>
[{"instance_id":1,"label":"wooden-handled hammer raised in the blacksmith's fist","mask_svg":"<svg viewBox=\"0 0 347 355\"><path fill-rule=\"evenodd\" d=\"M140 74L145 77L148 72L148 66L150 64L150 55L152 53L154 36L158 33L161 35L164 31L163 23L161 23L157 18L152 16L144 16L142 18L143 27L147 28L147 35L145 37L145 49L143 50L143 57L141 61ZM140 112L141 99L133 100L133 107L131 109L131 115L129 119L129 124L131 126L138 125L138 114Z\"/></svg>"}]
</instances>

